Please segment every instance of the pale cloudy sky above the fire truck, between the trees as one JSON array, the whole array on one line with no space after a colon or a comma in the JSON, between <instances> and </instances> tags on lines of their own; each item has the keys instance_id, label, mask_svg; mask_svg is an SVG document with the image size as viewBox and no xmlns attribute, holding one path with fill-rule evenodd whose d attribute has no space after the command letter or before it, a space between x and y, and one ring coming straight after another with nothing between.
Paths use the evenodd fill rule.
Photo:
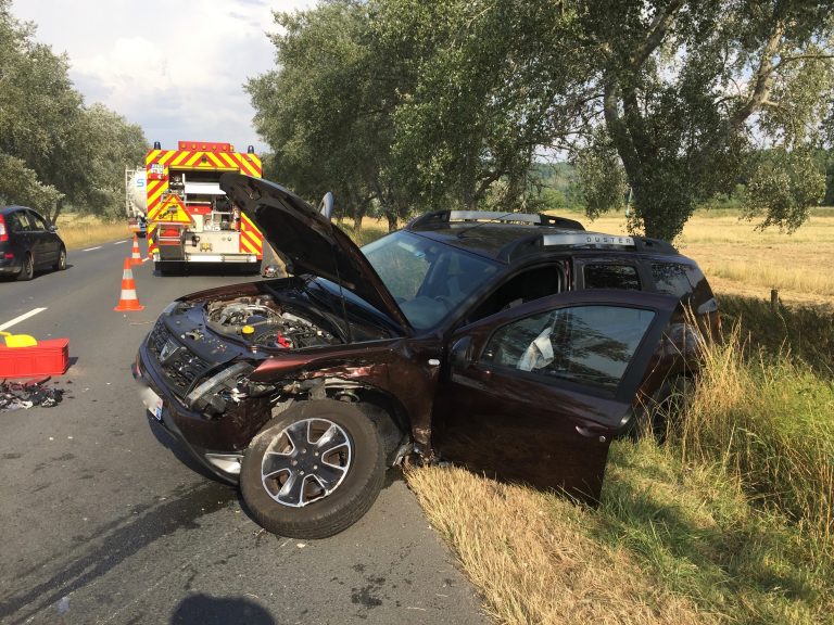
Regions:
<instances>
[{"instance_id":1,"label":"pale cloudy sky above the fire truck, between the trees","mask_svg":"<svg viewBox=\"0 0 834 625\"><path fill-rule=\"evenodd\" d=\"M265 151L243 91L275 67L273 11L315 0L13 0L35 38L70 58L85 103L101 102L149 142L217 141Z\"/></svg>"}]
</instances>

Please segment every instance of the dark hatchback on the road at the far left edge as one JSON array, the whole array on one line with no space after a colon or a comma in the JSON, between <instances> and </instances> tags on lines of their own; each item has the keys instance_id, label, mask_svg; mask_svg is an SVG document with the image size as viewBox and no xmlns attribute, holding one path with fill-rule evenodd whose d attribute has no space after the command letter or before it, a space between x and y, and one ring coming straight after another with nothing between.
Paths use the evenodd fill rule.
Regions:
<instances>
[{"instance_id":1,"label":"dark hatchback on the road at the far left edge","mask_svg":"<svg viewBox=\"0 0 834 625\"><path fill-rule=\"evenodd\" d=\"M58 228L31 208L0 208L0 276L31 280L42 268L66 269L66 246Z\"/></svg>"}]
</instances>

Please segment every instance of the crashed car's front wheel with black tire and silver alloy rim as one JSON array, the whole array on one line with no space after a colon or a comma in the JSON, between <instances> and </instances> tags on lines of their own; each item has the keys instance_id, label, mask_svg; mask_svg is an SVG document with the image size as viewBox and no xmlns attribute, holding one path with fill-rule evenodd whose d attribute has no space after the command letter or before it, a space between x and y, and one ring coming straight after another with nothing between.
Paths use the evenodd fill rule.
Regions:
<instances>
[{"instance_id":1,"label":"crashed car's front wheel with black tire and silver alloy rim","mask_svg":"<svg viewBox=\"0 0 834 625\"><path fill-rule=\"evenodd\" d=\"M321 456L308 456L325 448L316 443L324 439L320 432L330 428L328 423L336 426L328 445L336 446ZM295 432L288 432L290 429ZM306 432L307 446L291 443L289 447L288 441L299 438L299 431ZM325 455L327 463L313 464ZM270 471L265 467L268 462L273 469L288 468ZM294 468L290 468L292 462ZM346 530L370 509L384 473L384 450L376 425L355 406L324 399L302 403L264 425L243 457L240 489L255 521L269 532L293 538L326 538ZM301 488L290 487L285 493L282 486L291 475L296 482L304 475ZM328 483L332 485L329 490L324 485ZM305 495L309 496L306 502Z\"/></svg>"}]
</instances>

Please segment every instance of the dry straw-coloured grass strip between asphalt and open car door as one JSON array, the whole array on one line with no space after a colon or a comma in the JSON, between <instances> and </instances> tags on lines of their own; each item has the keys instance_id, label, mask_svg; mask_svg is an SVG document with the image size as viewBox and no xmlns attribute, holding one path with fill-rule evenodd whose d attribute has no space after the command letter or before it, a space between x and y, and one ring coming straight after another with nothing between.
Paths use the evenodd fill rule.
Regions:
<instances>
[{"instance_id":1,"label":"dry straw-coloured grass strip between asphalt and open car door","mask_svg":"<svg viewBox=\"0 0 834 625\"><path fill-rule=\"evenodd\" d=\"M462 469L422 468L408 484L501 623L712 623L658 585L629 549L592 536L594 513Z\"/></svg>"}]
</instances>

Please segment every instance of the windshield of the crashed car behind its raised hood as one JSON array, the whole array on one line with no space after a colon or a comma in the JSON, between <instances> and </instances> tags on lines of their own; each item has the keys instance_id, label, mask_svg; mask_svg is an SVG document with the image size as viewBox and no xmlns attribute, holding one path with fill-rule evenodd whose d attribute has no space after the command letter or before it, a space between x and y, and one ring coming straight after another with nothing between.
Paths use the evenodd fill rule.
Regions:
<instances>
[{"instance_id":1,"label":"windshield of the crashed car behind its raised hood","mask_svg":"<svg viewBox=\"0 0 834 625\"><path fill-rule=\"evenodd\" d=\"M417 330L437 326L500 268L402 230L365 245L362 252Z\"/></svg>"}]
</instances>

